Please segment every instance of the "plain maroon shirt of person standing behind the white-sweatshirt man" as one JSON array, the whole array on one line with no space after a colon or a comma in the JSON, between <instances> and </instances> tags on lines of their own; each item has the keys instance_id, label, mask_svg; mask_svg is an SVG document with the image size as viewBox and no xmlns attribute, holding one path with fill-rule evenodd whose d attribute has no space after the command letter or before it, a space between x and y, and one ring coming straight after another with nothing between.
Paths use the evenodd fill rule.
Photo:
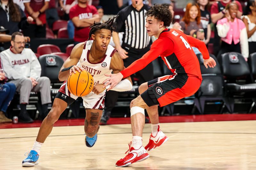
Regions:
<instances>
[{"instance_id":1,"label":"plain maroon shirt of person standing behind the white-sweatshirt man","mask_svg":"<svg viewBox=\"0 0 256 170\"><path fill-rule=\"evenodd\" d=\"M39 11L41 10L41 8L44 6L44 2L46 1L50 1L50 0L23 0L23 3L28 3L29 2L29 6L33 9L33 11ZM26 16L30 16L28 14L28 11L25 10L25 13L26 13ZM45 15L45 12L42 12L39 17L38 17L43 24L46 24L46 15ZM32 24L36 24L36 21L34 20L32 22Z\"/></svg>"}]
</instances>

